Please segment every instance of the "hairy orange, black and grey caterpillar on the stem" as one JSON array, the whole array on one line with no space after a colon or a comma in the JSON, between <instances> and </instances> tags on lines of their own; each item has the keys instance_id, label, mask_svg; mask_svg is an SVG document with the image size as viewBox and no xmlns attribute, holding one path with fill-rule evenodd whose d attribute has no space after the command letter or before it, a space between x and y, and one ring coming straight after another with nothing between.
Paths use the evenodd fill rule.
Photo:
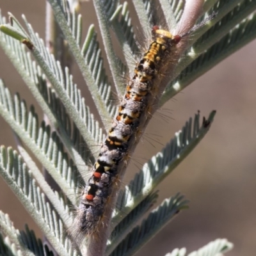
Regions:
<instances>
[{"instance_id":1,"label":"hairy orange, black and grey caterpillar on the stem","mask_svg":"<svg viewBox=\"0 0 256 256\"><path fill-rule=\"evenodd\" d=\"M118 179L118 170L127 163L129 150L140 138L141 123L146 122L145 113L150 113L152 100L157 95L156 79L166 65L166 58L172 54L182 36L152 28L152 42L134 68L134 74L127 83L118 114L93 165L92 175L86 182L77 209L76 225L79 236L95 232L104 216L106 204Z\"/></svg>"}]
</instances>

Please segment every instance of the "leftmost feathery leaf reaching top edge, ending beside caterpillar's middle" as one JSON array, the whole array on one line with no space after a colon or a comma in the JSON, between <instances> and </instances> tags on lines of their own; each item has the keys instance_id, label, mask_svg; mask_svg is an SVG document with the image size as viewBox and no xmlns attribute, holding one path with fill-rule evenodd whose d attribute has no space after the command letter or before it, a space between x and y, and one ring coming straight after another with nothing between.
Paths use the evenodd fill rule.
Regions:
<instances>
[{"instance_id":1,"label":"leftmost feathery leaf reaching top edge, ending beside caterpillar's middle","mask_svg":"<svg viewBox=\"0 0 256 256\"><path fill-rule=\"evenodd\" d=\"M52 6L55 18L60 25L63 34L65 35L70 50L76 59L77 65L83 74L84 81L86 81L86 85L92 94L92 98L95 101L95 106L97 107L99 113L101 113L102 116L104 116L104 118L108 119L110 122L110 116L112 116L116 110L115 106L113 106L111 102L113 100L113 95L111 95L111 87L108 83L105 70L102 65L99 44L95 44L95 42L92 41L95 40L96 36L93 26L91 26L89 29L88 35L86 36L86 41L84 42L84 45L91 45L93 49L89 47L86 48L84 46L83 49L80 49L70 24L72 15L77 15L77 13L72 13L65 4L65 1L49 0L49 3ZM98 66L95 63L97 63ZM97 69L94 68L95 66L97 66ZM104 93L102 93L102 90Z\"/></svg>"}]
</instances>

